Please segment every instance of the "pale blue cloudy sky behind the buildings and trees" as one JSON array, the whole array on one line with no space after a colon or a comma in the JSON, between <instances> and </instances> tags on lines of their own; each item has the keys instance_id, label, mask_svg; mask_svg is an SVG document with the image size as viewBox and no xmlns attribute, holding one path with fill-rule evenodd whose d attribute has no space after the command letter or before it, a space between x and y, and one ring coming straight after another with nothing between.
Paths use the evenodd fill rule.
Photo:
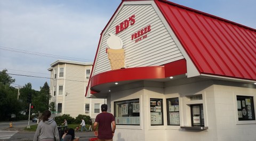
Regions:
<instances>
[{"instance_id":1,"label":"pale blue cloudy sky behind the buildings and trees","mask_svg":"<svg viewBox=\"0 0 256 141\"><path fill-rule=\"evenodd\" d=\"M100 33L122 0L0 0L0 71L13 86L47 82L58 59L93 62ZM255 0L171 2L256 29Z\"/></svg>"}]
</instances>

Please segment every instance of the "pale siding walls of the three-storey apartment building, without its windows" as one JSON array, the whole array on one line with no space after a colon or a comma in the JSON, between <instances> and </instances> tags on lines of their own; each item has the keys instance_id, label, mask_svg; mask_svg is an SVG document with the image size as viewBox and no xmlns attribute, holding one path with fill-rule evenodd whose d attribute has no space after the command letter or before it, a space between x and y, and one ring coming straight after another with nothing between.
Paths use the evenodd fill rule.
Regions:
<instances>
[{"instance_id":1,"label":"pale siding walls of the three-storey apartment building, without its windows","mask_svg":"<svg viewBox=\"0 0 256 141\"><path fill-rule=\"evenodd\" d=\"M91 118L95 118L94 103L103 104L104 99L87 99L85 98L85 87L89 79L86 79L86 69L92 69L91 65L86 64L72 64L71 61L67 63L55 64L53 71L56 68L64 68L64 77L59 78L59 73L56 79L50 81L50 91L53 96L53 87L56 86L56 96L53 96L50 102L55 102L55 108L58 110L58 103L62 103L62 113L54 114L60 116L61 114L70 114L71 117L77 117L78 114L85 114ZM52 71L51 71L52 73ZM63 85L63 95L58 95L59 85ZM90 104L90 112L85 113L85 103Z\"/></svg>"}]
</instances>

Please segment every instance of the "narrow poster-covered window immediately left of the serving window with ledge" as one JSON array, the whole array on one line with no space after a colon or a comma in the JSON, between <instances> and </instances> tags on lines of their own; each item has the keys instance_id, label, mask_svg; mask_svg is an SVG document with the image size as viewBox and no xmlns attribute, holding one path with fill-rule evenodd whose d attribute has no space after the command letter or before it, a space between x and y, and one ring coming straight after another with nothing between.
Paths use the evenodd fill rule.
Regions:
<instances>
[{"instance_id":1,"label":"narrow poster-covered window immediately left of the serving window with ledge","mask_svg":"<svg viewBox=\"0 0 256 141\"><path fill-rule=\"evenodd\" d=\"M168 125L180 125L179 98L166 99Z\"/></svg>"}]
</instances>

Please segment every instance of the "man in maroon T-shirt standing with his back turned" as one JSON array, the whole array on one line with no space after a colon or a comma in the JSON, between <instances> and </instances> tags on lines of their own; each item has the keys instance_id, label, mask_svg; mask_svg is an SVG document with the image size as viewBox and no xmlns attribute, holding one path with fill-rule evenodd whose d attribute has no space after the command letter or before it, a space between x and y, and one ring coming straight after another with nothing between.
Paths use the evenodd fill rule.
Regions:
<instances>
[{"instance_id":1,"label":"man in maroon T-shirt standing with his back turned","mask_svg":"<svg viewBox=\"0 0 256 141\"><path fill-rule=\"evenodd\" d=\"M112 141L116 129L116 122L113 114L108 113L108 105L101 105L101 113L99 113L93 124L94 135L98 136L98 141ZM99 124L98 131L96 131ZM111 126L112 125L112 126Z\"/></svg>"}]
</instances>

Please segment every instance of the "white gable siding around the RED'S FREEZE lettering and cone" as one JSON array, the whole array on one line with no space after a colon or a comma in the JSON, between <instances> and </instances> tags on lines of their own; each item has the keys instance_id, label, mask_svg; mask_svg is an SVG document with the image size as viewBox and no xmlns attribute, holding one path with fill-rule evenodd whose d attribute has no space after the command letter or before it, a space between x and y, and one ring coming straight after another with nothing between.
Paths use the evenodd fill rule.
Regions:
<instances>
[{"instance_id":1,"label":"white gable siding around the RED'S FREEZE lettering and cone","mask_svg":"<svg viewBox=\"0 0 256 141\"><path fill-rule=\"evenodd\" d=\"M123 41L126 68L159 66L184 58L153 6L150 4L124 5L102 36L94 75L111 70L106 53L108 33L115 34L116 25L129 19L133 14L135 23L116 35ZM138 42L131 40L133 33L148 25L151 26L151 31L147 33L147 38Z\"/></svg>"}]
</instances>

